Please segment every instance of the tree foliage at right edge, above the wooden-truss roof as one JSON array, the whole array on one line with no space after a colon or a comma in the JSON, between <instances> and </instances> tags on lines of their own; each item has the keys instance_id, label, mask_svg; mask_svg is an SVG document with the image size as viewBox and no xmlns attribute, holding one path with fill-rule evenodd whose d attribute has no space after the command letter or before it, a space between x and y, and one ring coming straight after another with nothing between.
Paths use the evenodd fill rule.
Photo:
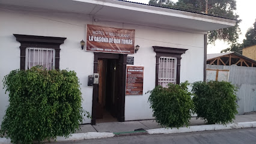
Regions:
<instances>
[{"instance_id":1,"label":"tree foliage at right edge, above the wooden-truss roof","mask_svg":"<svg viewBox=\"0 0 256 144\"><path fill-rule=\"evenodd\" d=\"M243 43L233 43L230 47L227 49L221 50L221 53L224 52L237 52L242 54L243 47L248 47L256 44L256 19L254 22L254 27L251 27L247 30L245 34L245 39L243 40Z\"/></svg>"}]
</instances>

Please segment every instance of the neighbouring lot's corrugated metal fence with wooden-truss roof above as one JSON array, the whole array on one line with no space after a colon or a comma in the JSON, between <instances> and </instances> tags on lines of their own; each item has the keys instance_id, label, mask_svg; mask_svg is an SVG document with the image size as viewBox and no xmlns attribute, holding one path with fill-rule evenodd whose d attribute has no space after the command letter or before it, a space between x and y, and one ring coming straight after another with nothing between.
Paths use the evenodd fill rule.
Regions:
<instances>
[{"instance_id":1,"label":"neighbouring lot's corrugated metal fence with wooden-truss roof above","mask_svg":"<svg viewBox=\"0 0 256 144\"><path fill-rule=\"evenodd\" d=\"M256 61L236 52L207 54L207 80L228 81L237 87L239 115L256 110Z\"/></svg>"}]
</instances>

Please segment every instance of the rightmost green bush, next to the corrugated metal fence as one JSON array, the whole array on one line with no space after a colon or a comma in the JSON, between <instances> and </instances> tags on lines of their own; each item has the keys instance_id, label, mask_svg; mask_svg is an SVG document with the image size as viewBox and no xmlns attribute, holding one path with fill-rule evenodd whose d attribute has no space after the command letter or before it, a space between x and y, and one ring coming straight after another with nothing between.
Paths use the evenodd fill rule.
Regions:
<instances>
[{"instance_id":1,"label":"rightmost green bush, next to the corrugated metal fence","mask_svg":"<svg viewBox=\"0 0 256 144\"><path fill-rule=\"evenodd\" d=\"M229 82L195 82L192 92L197 118L208 124L233 122L237 114L236 87Z\"/></svg>"}]
</instances>

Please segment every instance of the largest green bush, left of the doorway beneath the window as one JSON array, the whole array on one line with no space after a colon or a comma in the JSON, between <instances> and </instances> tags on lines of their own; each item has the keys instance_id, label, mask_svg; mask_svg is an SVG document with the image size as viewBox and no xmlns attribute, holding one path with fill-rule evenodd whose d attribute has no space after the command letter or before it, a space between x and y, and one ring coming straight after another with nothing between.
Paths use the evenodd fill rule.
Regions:
<instances>
[{"instance_id":1,"label":"largest green bush, left of the doorway beneath the window","mask_svg":"<svg viewBox=\"0 0 256 144\"><path fill-rule=\"evenodd\" d=\"M13 70L4 77L9 102L1 133L13 143L69 136L82 122L81 91L75 71Z\"/></svg>"}]
</instances>

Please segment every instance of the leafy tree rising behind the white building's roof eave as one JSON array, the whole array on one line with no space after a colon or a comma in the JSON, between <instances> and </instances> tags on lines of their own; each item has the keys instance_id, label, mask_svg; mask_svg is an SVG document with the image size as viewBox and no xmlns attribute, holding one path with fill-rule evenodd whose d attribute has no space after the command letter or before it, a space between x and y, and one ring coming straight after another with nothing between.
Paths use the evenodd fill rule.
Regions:
<instances>
[{"instance_id":1,"label":"leafy tree rising behind the white building's roof eave","mask_svg":"<svg viewBox=\"0 0 256 144\"><path fill-rule=\"evenodd\" d=\"M206 5L206 2L208 2L208 5ZM160 1L150 0L149 4L159 5ZM206 13L207 10L207 14L237 20L236 26L210 31L208 33L208 41L210 44L215 44L216 40L236 43L237 39L239 38L239 23L241 20L239 20L239 16L234 13L236 10L236 0L178 0L176 3L162 0L162 6L181 10L196 11L198 13Z\"/></svg>"}]
</instances>

